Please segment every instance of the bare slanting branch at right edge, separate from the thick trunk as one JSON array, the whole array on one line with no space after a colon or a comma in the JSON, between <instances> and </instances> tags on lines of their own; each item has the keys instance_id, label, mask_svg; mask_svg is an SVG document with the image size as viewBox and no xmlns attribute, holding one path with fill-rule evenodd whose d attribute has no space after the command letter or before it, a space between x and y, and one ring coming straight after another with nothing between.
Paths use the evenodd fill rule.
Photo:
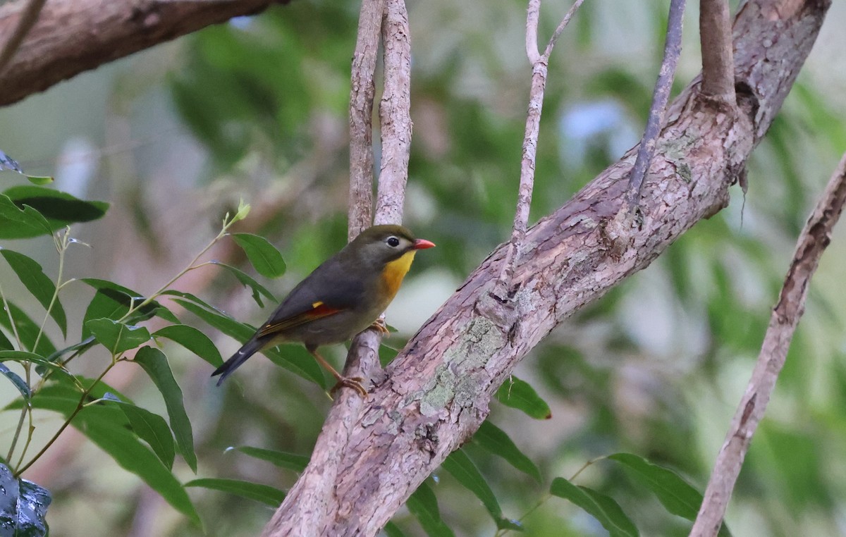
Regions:
<instances>
[{"instance_id":1,"label":"bare slanting branch at right edge, separate from the thick trunk","mask_svg":"<svg viewBox=\"0 0 846 537\"><path fill-rule=\"evenodd\" d=\"M734 414L726 441L717 455L699 515L690 531L691 536L716 535L720 529L752 435L764 416L766 403L770 401L778 374L787 358L796 325L805 311L810 278L814 276L823 250L831 242L832 228L838 222L844 203L846 155L840 160L837 171L799 235L793 261L770 316L758 362Z\"/></svg>"}]
</instances>

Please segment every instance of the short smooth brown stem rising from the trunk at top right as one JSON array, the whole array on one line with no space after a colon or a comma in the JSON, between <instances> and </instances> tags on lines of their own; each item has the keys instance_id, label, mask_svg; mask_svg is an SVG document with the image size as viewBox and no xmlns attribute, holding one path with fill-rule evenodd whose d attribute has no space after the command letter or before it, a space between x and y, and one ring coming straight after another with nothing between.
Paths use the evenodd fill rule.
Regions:
<instances>
[{"instance_id":1,"label":"short smooth brown stem rising from the trunk at top right","mask_svg":"<svg viewBox=\"0 0 846 537\"><path fill-rule=\"evenodd\" d=\"M702 93L733 106L734 59L727 0L700 0L699 34Z\"/></svg>"}]
</instances>

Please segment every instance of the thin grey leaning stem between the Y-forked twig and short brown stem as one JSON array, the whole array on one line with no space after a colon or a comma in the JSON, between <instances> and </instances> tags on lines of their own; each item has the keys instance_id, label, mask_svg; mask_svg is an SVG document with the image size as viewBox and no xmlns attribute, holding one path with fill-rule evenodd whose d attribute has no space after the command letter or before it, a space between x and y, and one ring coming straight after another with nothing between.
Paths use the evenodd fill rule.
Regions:
<instances>
[{"instance_id":1,"label":"thin grey leaning stem between the Y-forked twig and short brown stem","mask_svg":"<svg viewBox=\"0 0 846 537\"><path fill-rule=\"evenodd\" d=\"M640 146L637 150L637 157L634 160L634 167L629 176L629 206L637 207L640 198L640 185L643 184L646 171L655 156L655 145L658 134L664 123L664 112L667 110L667 101L670 98L670 90L673 89L673 79L676 74L678 56L682 50L682 19L684 15L684 0L670 0L670 14L667 18L667 41L664 43L664 59L661 62L661 71L652 92L652 105L649 109L649 119L646 120L646 129Z\"/></svg>"}]
</instances>

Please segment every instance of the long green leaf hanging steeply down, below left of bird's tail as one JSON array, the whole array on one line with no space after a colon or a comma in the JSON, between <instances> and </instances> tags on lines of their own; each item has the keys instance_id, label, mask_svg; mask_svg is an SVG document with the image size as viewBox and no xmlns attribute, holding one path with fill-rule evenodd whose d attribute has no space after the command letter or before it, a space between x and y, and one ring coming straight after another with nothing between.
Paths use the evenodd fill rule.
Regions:
<instances>
[{"instance_id":1,"label":"long green leaf hanging steeply down, below left of bird's tail","mask_svg":"<svg viewBox=\"0 0 846 537\"><path fill-rule=\"evenodd\" d=\"M179 452L190 468L197 472L197 456L194 452L194 433L191 430L191 422L182 399L182 389L173 378L173 371L170 370L168 358L157 348L142 347L135 353L133 360L139 364L150 375L153 383L162 392L165 407L168 408L170 428L173 429L173 436L176 436L176 444Z\"/></svg>"}]
</instances>

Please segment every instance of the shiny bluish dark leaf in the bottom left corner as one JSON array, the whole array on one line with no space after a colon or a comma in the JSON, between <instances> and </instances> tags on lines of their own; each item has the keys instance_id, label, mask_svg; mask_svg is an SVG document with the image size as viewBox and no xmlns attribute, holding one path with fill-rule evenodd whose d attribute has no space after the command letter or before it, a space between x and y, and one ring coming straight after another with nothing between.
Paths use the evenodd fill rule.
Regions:
<instances>
[{"instance_id":1,"label":"shiny bluish dark leaf in the bottom left corner","mask_svg":"<svg viewBox=\"0 0 846 537\"><path fill-rule=\"evenodd\" d=\"M50 492L26 479L17 479L0 463L0 534L15 537L42 537L49 533L47 507Z\"/></svg>"}]
</instances>

